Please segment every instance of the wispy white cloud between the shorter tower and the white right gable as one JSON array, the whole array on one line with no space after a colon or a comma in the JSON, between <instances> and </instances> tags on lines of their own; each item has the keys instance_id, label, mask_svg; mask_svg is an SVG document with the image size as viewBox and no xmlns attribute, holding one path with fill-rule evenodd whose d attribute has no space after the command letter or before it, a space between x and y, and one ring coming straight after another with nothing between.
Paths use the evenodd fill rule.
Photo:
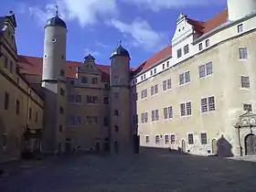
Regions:
<instances>
[{"instance_id":1,"label":"wispy white cloud between the shorter tower and the white right gable","mask_svg":"<svg viewBox=\"0 0 256 192\"><path fill-rule=\"evenodd\" d=\"M168 44L167 37L163 33L156 32L141 18L134 19L131 24L112 19L109 25L123 33L123 37L132 37L131 44L133 47L141 47L146 51L155 51Z\"/></svg>"}]
</instances>

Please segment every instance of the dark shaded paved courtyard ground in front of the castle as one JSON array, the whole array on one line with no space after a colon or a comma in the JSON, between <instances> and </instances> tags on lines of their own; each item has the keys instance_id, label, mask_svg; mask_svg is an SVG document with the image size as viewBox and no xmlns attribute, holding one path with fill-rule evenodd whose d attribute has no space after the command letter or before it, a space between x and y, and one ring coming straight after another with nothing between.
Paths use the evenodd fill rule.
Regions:
<instances>
[{"instance_id":1,"label":"dark shaded paved courtyard ground in front of the castle","mask_svg":"<svg viewBox=\"0 0 256 192\"><path fill-rule=\"evenodd\" d=\"M256 164L218 157L143 152L23 162L0 176L0 192L256 191Z\"/></svg>"}]
</instances>

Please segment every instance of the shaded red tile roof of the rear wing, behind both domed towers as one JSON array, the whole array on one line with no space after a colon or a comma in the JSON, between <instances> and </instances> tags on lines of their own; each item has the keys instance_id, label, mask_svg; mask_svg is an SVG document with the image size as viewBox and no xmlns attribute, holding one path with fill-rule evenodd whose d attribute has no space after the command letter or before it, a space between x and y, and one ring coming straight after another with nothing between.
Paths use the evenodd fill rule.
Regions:
<instances>
[{"instance_id":1,"label":"shaded red tile roof of the rear wing, behind both domed towers","mask_svg":"<svg viewBox=\"0 0 256 192\"><path fill-rule=\"evenodd\" d=\"M20 73L42 76L43 71L43 59L28 56L18 56ZM68 78L75 78L77 73L77 67L79 67L82 62L77 61L67 61L66 62L66 76ZM96 66L102 71L101 80L106 82L109 80L110 66L99 65Z\"/></svg>"}]
</instances>

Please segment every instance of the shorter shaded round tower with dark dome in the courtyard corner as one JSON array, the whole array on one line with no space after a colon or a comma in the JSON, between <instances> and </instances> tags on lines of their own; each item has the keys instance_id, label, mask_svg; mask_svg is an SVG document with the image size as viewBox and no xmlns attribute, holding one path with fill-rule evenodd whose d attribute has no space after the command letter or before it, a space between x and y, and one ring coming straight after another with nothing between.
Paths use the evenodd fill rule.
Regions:
<instances>
[{"instance_id":1,"label":"shorter shaded round tower with dark dome in the courtyard corner","mask_svg":"<svg viewBox=\"0 0 256 192\"><path fill-rule=\"evenodd\" d=\"M131 142L130 110L130 55L120 46L111 56L110 71L111 127L110 142L112 154L127 153Z\"/></svg>"}]
</instances>

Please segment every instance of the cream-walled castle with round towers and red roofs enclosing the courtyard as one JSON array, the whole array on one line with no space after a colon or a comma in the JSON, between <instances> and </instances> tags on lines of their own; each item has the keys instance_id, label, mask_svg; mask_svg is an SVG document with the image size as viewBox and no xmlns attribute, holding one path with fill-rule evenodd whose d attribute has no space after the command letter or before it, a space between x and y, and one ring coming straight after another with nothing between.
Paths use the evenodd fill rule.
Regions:
<instances>
[{"instance_id":1,"label":"cream-walled castle with round towers and red roofs enclosing the courtyard","mask_svg":"<svg viewBox=\"0 0 256 192\"><path fill-rule=\"evenodd\" d=\"M91 55L67 61L68 27L58 14L47 21L43 57L17 55L15 16L1 17L0 157L17 157L17 138L28 148L39 140L46 153L137 153L140 144L256 155L256 1L227 3L207 21L180 14L171 45L134 69L121 44L110 66Z\"/></svg>"}]
</instances>

